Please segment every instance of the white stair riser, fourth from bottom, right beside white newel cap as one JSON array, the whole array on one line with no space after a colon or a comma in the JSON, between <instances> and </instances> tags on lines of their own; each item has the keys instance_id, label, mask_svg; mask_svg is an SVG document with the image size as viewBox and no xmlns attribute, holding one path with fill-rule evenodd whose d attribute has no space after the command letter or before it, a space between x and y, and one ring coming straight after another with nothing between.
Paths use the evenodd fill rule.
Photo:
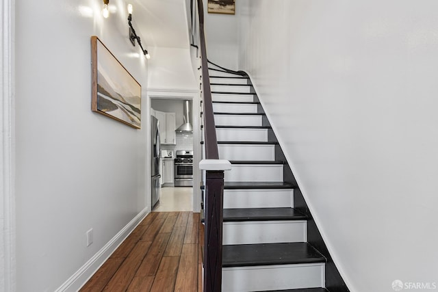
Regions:
<instances>
[{"instance_id":1,"label":"white stair riser, fourth from bottom, right beside white newel cap","mask_svg":"<svg viewBox=\"0 0 438 292\"><path fill-rule=\"evenodd\" d=\"M283 165L234 164L225 181L283 181Z\"/></svg>"}]
</instances>

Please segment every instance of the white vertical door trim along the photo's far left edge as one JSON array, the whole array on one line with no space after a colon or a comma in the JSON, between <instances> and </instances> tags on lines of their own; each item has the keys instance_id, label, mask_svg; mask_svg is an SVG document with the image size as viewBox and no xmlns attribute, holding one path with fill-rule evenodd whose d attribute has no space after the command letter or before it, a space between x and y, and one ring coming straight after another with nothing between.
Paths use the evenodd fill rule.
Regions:
<instances>
[{"instance_id":1,"label":"white vertical door trim along the photo's far left edge","mask_svg":"<svg viewBox=\"0 0 438 292\"><path fill-rule=\"evenodd\" d=\"M1 13L0 291L16 290L14 195L14 0Z\"/></svg>"}]
</instances>

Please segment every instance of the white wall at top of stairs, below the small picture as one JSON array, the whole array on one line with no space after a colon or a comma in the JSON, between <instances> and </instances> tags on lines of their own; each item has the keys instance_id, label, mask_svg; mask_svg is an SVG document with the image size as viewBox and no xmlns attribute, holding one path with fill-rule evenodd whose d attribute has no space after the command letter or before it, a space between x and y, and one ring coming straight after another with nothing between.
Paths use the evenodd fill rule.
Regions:
<instances>
[{"instance_id":1,"label":"white wall at top of stairs, below the small picture","mask_svg":"<svg viewBox=\"0 0 438 292\"><path fill-rule=\"evenodd\" d=\"M203 5L208 59L224 68L237 70L237 15L208 13L207 0L203 1ZM240 1L236 1L235 9L238 14Z\"/></svg>"}]
</instances>

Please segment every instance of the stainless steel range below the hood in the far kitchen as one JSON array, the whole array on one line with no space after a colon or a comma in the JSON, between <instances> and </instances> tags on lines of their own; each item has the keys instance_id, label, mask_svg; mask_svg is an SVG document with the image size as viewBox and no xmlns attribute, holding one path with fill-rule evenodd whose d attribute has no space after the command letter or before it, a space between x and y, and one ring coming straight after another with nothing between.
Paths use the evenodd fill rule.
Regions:
<instances>
[{"instance_id":1,"label":"stainless steel range below the hood in the far kitchen","mask_svg":"<svg viewBox=\"0 0 438 292\"><path fill-rule=\"evenodd\" d=\"M178 150L175 158L175 187L193 186L193 151Z\"/></svg>"}]
</instances>

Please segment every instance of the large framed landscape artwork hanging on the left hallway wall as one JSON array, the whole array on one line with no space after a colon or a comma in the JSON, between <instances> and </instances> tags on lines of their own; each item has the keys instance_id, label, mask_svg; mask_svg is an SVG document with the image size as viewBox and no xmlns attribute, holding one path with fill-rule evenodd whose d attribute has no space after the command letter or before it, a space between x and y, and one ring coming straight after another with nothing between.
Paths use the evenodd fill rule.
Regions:
<instances>
[{"instance_id":1,"label":"large framed landscape artwork hanging on the left hallway wall","mask_svg":"<svg viewBox=\"0 0 438 292\"><path fill-rule=\"evenodd\" d=\"M140 83L96 36L91 37L91 55L92 111L140 129Z\"/></svg>"}]
</instances>

